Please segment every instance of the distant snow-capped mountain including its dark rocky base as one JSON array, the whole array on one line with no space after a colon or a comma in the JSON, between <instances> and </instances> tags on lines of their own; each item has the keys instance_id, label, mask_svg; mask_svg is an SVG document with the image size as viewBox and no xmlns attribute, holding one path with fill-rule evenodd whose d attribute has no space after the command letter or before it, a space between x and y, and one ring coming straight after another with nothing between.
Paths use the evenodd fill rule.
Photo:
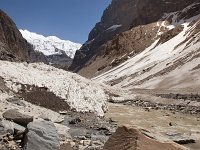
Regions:
<instances>
[{"instance_id":1,"label":"distant snow-capped mountain including its dark rocky base","mask_svg":"<svg viewBox=\"0 0 200 150\"><path fill-rule=\"evenodd\" d=\"M55 36L44 37L28 30L19 30L22 36L33 46L36 57L34 62L44 62L57 68L67 69L81 44L61 40Z\"/></svg>"}]
</instances>

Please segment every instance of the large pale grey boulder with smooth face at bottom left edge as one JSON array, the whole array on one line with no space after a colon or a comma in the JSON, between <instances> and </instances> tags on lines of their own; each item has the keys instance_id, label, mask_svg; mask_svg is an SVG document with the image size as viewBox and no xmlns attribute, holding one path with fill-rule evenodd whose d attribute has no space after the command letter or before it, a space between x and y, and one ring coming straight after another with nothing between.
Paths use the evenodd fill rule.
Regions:
<instances>
[{"instance_id":1,"label":"large pale grey boulder with smooth face at bottom left edge","mask_svg":"<svg viewBox=\"0 0 200 150\"><path fill-rule=\"evenodd\" d=\"M49 121L35 121L27 126L24 150L59 150L59 135Z\"/></svg>"}]
</instances>

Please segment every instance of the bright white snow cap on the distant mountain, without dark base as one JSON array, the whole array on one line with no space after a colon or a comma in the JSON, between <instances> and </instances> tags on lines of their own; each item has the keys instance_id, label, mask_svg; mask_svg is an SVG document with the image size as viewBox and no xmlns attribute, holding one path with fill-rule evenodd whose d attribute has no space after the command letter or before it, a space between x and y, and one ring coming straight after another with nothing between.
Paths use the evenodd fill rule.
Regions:
<instances>
[{"instance_id":1,"label":"bright white snow cap on the distant mountain, without dark base","mask_svg":"<svg viewBox=\"0 0 200 150\"><path fill-rule=\"evenodd\" d=\"M55 36L44 37L28 30L20 29L19 31L34 46L35 51L40 51L44 55L61 54L64 51L70 58L74 58L76 50L81 47L81 44L61 40Z\"/></svg>"}]
</instances>

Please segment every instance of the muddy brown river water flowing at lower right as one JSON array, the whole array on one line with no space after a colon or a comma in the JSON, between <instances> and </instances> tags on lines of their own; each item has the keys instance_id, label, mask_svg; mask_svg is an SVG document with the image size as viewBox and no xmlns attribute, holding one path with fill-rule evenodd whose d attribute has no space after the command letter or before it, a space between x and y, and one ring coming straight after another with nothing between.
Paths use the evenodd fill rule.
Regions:
<instances>
[{"instance_id":1,"label":"muddy brown river water flowing at lower right","mask_svg":"<svg viewBox=\"0 0 200 150\"><path fill-rule=\"evenodd\" d=\"M117 121L118 125L139 126L169 139L193 139L195 143L183 146L191 150L200 150L200 116L165 110L146 111L141 107L123 104L109 103L108 107L106 116Z\"/></svg>"}]
</instances>

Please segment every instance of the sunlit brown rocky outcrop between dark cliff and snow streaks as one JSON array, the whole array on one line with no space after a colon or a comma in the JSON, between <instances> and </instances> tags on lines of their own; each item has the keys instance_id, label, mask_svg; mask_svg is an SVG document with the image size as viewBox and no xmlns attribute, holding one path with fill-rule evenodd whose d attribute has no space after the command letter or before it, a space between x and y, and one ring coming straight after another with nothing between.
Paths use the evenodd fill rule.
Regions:
<instances>
[{"instance_id":1,"label":"sunlit brown rocky outcrop between dark cliff and snow streaks","mask_svg":"<svg viewBox=\"0 0 200 150\"><path fill-rule=\"evenodd\" d=\"M158 30L156 23L152 23L114 36L97 49L95 56L85 64L79 74L91 78L125 62L149 47L158 38Z\"/></svg>"}]
</instances>

